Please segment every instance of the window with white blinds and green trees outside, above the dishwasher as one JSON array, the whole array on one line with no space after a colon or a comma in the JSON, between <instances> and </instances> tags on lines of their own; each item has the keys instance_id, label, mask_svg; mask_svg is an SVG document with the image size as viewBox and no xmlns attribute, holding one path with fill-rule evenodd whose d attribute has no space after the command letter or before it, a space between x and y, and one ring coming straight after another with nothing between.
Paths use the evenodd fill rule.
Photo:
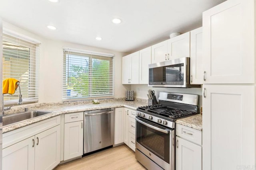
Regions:
<instances>
[{"instance_id":1,"label":"window with white blinds and green trees outside, above the dishwasher","mask_svg":"<svg viewBox=\"0 0 256 170\"><path fill-rule=\"evenodd\" d=\"M63 100L114 97L114 55L64 49Z\"/></svg>"}]
</instances>

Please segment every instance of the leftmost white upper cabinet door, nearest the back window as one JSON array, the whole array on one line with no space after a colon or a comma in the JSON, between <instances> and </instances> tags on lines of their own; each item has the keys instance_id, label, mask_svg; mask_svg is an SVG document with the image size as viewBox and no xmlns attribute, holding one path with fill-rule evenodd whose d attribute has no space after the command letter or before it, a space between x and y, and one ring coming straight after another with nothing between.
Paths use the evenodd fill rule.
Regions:
<instances>
[{"instance_id":1,"label":"leftmost white upper cabinet door, nearest the back window","mask_svg":"<svg viewBox=\"0 0 256 170\"><path fill-rule=\"evenodd\" d=\"M122 84L129 84L131 76L131 58L126 55L122 58Z\"/></svg>"}]
</instances>

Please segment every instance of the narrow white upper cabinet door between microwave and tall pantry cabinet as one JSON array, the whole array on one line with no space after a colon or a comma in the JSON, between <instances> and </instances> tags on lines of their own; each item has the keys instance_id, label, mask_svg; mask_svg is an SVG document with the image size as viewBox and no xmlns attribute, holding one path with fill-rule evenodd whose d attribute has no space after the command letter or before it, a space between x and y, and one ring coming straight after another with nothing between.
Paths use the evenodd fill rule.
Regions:
<instances>
[{"instance_id":1,"label":"narrow white upper cabinet door between microwave and tall pantry cabinet","mask_svg":"<svg viewBox=\"0 0 256 170\"><path fill-rule=\"evenodd\" d=\"M203 84L202 27L190 31L190 84Z\"/></svg>"}]
</instances>

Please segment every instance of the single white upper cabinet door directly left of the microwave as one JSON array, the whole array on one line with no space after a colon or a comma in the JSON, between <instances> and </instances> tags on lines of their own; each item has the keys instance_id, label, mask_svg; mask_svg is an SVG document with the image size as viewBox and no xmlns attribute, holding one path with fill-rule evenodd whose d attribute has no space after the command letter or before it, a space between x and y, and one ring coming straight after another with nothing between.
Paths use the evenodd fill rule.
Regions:
<instances>
[{"instance_id":1,"label":"single white upper cabinet door directly left of the microwave","mask_svg":"<svg viewBox=\"0 0 256 170\"><path fill-rule=\"evenodd\" d=\"M151 47L140 50L139 84L148 84L148 64L151 64Z\"/></svg>"}]
</instances>

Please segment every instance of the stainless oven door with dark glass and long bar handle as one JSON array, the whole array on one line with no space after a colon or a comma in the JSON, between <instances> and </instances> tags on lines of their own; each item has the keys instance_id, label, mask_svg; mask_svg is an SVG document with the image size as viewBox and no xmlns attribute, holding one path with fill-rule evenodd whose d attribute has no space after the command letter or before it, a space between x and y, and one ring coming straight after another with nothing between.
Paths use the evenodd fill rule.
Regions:
<instances>
[{"instance_id":1,"label":"stainless oven door with dark glass and long bar handle","mask_svg":"<svg viewBox=\"0 0 256 170\"><path fill-rule=\"evenodd\" d=\"M174 129L136 117L136 149L162 168L174 170Z\"/></svg>"}]
</instances>

